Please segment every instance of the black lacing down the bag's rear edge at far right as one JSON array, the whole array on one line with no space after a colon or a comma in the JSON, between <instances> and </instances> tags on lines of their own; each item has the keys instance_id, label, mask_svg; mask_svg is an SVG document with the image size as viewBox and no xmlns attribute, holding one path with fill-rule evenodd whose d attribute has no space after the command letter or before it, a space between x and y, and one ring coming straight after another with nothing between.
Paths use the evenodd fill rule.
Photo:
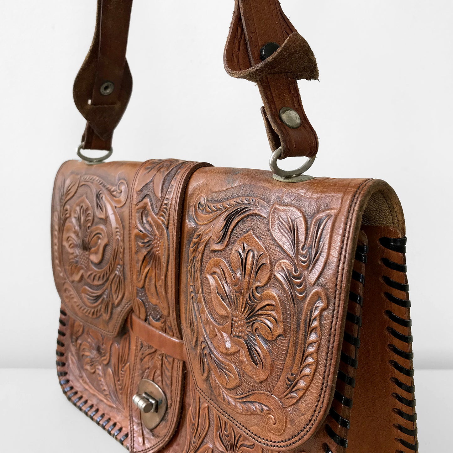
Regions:
<instances>
[{"instance_id":1,"label":"black lacing down the bag's rear edge at far right","mask_svg":"<svg viewBox=\"0 0 453 453\"><path fill-rule=\"evenodd\" d=\"M404 254L406 252L406 237L402 238L390 238L390 237L381 237L379 242L381 243L381 246L385 247L388 250L402 253ZM386 268L394 270L396 272L401 272L403 275L405 275L406 272L406 265L405 264L399 264L395 263L394 261L391 261L387 258L382 258L381 260L382 264L386 266ZM409 291L409 285L406 283L399 283L395 280L390 279L387 276L383 276L382 280L386 283L386 285L391 288L391 289L396 289L397 291L402 291L406 293L406 299L400 299L393 294L390 294L390 292L384 293L386 298L391 302L392 304L395 304L399 307L403 308L410 308L410 300L408 298L407 292ZM397 316L395 313L393 313L391 310L386 310L385 312L387 318L394 323L394 326L389 326L387 327L387 332L394 338L396 338L398 341L406 343L408 345L411 345L412 343L412 335L406 335L405 333L401 333L398 329L401 327L404 328L410 328L412 321L410 319L405 319L405 318L400 318ZM397 356L401 357L405 360L411 361L414 357L413 352L405 352L402 351L400 348L396 347L394 344L389 344L388 347L390 350ZM409 346L409 349L410 346ZM397 359L395 357L395 359ZM413 377L414 376L414 370L411 368L406 368L405 366L402 366L400 363L398 363L397 360L390 360L390 366L392 366L395 371L398 373L401 373L404 376L408 377ZM406 398L405 396L400 395L398 391L392 393L392 397L395 398L400 404L407 406L409 408L414 408L415 407L415 399L414 399L414 392L415 392L415 387L408 386L407 384L404 384L401 382L398 378L392 377L391 381L395 384L395 386L406 392L407 394L410 395L410 398ZM393 412L397 414L401 419L407 420L411 423L414 423L417 419L417 415L414 414L407 414L406 412L400 410L400 409L393 409ZM417 435L417 429L408 429L405 428L404 426L398 424L395 425L395 429L400 431L402 434L405 434L410 437L414 437ZM409 449L410 451L417 452L418 451L418 442L415 441L414 443L409 443L405 441L404 439L397 439L400 444ZM398 450L396 453L404 453L401 450Z\"/></svg>"}]
</instances>

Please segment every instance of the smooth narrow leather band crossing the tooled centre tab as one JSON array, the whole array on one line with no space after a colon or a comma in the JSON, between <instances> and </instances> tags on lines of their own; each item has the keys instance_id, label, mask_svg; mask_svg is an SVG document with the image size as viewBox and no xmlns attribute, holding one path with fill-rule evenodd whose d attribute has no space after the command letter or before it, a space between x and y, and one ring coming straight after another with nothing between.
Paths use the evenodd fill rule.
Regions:
<instances>
[{"instance_id":1,"label":"smooth narrow leather band crossing the tooled centre tab","mask_svg":"<svg viewBox=\"0 0 453 453\"><path fill-rule=\"evenodd\" d=\"M186 350L183 340L178 340L178 338L171 337L161 330L152 327L138 318L134 313L130 315L130 326L132 332L150 346L159 349L159 351L175 359L186 360Z\"/></svg>"}]
</instances>

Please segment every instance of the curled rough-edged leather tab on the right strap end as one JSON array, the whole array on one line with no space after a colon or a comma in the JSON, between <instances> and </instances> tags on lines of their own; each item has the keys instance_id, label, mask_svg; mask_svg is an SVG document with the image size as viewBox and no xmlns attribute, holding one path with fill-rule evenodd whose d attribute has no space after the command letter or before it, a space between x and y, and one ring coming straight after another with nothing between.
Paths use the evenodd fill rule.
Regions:
<instances>
[{"instance_id":1,"label":"curled rough-edged leather tab on the right strap end","mask_svg":"<svg viewBox=\"0 0 453 453\"><path fill-rule=\"evenodd\" d=\"M289 73L296 79L306 80L316 80L319 77L313 51L297 32L290 34L270 57L251 67L241 21L238 21L237 34L230 35L226 43L225 69L231 77L251 82L270 74Z\"/></svg>"}]
</instances>

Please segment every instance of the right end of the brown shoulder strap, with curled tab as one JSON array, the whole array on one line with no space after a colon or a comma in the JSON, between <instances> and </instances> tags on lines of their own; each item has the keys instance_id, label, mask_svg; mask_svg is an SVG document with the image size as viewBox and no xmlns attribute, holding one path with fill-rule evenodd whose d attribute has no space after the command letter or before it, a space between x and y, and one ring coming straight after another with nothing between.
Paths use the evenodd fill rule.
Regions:
<instances>
[{"instance_id":1,"label":"right end of the brown shoulder strap, with curled tab","mask_svg":"<svg viewBox=\"0 0 453 453\"><path fill-rule=\"evenodd\" d=\"M266 43L276 43L280 48L261 62L260 49ZM314 157L318 136L305 115L297 79L317 79L318 67L311 48L297 34L278 0L236 0L224 65L232 77L257 83L271 149L281 147L281 159ZM299 127L284 124L280 118L283 107L299 114Z\"/></svg>"}]
</instances>

